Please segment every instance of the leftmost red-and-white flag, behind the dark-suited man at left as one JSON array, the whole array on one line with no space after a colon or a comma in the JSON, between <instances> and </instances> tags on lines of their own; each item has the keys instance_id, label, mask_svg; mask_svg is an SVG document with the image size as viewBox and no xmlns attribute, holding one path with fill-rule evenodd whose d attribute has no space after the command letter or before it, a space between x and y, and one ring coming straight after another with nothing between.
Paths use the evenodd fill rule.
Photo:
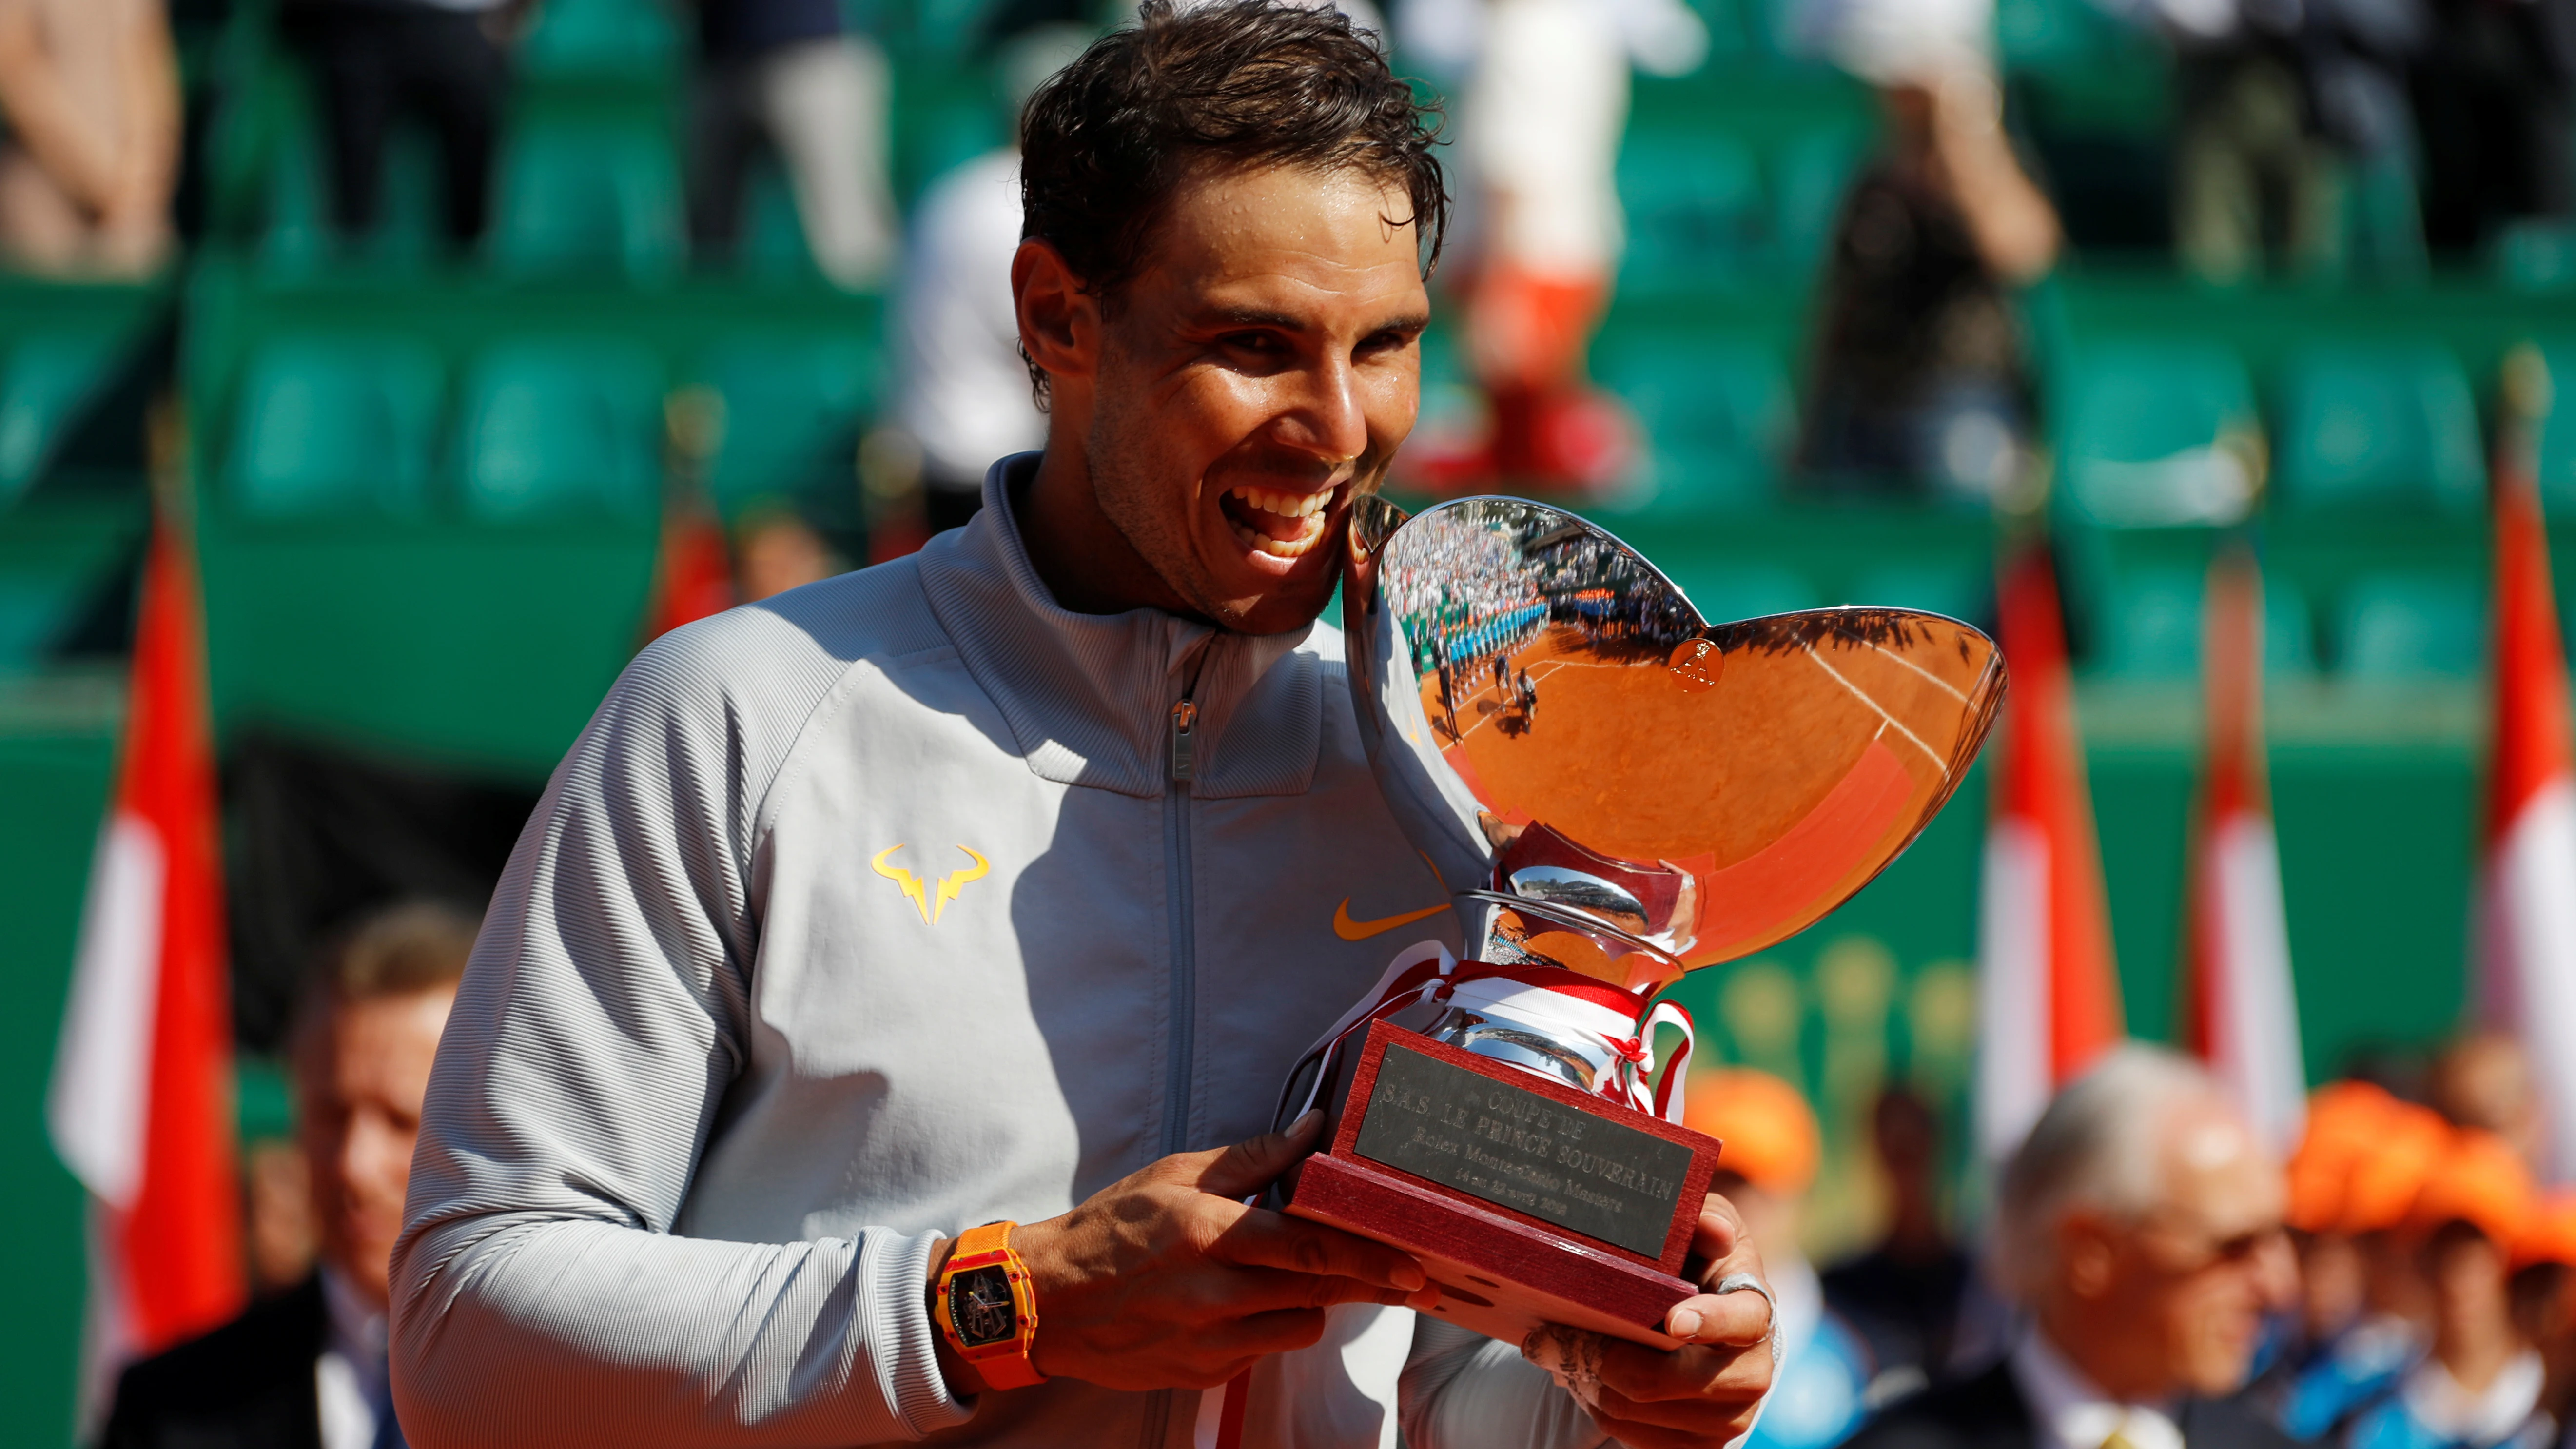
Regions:
<instances>
[{"instance_id":1,"label":"leftmost red-and-white flag, behind the dark-suited man at left","mask_svg":"<svg viewBox=\"0 0 2576 1449\"><path fill-rule=\"evenodd\" d=\"M90 1405L124 1361L245 1302L211 735L196 570L157 526L46 1096L90 1189Z\"/></svg>"}]
</instances>

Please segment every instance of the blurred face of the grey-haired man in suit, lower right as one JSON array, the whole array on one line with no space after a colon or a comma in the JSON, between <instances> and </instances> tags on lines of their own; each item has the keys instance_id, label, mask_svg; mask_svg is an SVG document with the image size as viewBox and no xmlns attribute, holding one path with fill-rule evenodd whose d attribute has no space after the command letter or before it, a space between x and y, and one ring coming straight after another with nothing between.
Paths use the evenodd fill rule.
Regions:
<instances>
[{"instance_id":1,"label":"blurred face of the grey-haired man in suit, lower right","mask_svg":"<svg viewBox=\"0 0 2576 1449\"><path fill-rule=\"evenodd\" d=\"M2099 1323L2136 1325L2151 1377L2223 1395L2244 1385L2267 1312L2293 1305L2298 1261L2282 1230L2280 1165L2223 1104L2166 1122L2166 1201L2112 1235Z\"/></svg>"}]
</instances>

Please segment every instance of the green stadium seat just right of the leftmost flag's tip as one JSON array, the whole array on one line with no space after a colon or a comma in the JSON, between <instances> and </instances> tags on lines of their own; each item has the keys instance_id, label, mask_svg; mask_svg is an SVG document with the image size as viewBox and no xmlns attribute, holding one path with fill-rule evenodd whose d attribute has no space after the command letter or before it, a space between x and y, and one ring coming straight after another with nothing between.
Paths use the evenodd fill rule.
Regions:
<instances>
[{"instance_id":1,"label":"green stadium seat just right of the leftmost flag's tip","mask_svg":"<svg viewBox=\"0 0 2576 1449\"><path fill-rule=\"evenodd\" d=\"M252 518L428 511L438 358L407 338L281 338L234 407L227 492Z\"/></svg>"}]
</instances>

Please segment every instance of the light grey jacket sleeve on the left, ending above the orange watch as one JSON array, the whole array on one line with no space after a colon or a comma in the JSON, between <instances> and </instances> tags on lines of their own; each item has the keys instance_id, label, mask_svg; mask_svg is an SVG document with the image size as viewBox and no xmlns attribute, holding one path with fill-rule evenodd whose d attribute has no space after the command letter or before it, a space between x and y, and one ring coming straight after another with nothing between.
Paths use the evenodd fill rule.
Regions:
<instances>
[{"instance_id":1,"label":"light grey jacket sleeve on the left, ending above the orange watch","mask_svg":"<svg viewBox=\"0 0 2576 1449\"><path fill-rule=\"evenodd\" d=\"M876 1444L971 1413L933 1356L930 1235L672 1235L744 1052L757 797L845 670L781 629L654 642L510 856L394 1248L417 1449Z\"/></svg>"}]
</instances>

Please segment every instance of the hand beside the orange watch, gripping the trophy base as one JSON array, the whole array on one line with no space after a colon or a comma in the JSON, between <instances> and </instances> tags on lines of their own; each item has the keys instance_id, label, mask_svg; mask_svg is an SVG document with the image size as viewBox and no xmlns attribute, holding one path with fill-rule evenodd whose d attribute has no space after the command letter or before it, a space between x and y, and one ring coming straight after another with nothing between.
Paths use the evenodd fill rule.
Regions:
<instances>
[{"instance_id":1,"label":"hand beside the orange watch, gripping the trophy base","mask_svg":"<svg viewBox=\"0 0 2576 1449\"><path fill-rule=\"evenodd\" d=\"M1113 1390L1206 1390L1314 1343L1337 1302L1437 1302L1409 1253L1242 1204L1321 1127L1324 1114L1309 1111L1288 1132L1180 1152L1064 1217L1018 1227L1010 1245L1038 1299L1038 1372ZM945 1346L940 1366L958 1392L976 1387Z\"/></svg>"}]
</instances>

